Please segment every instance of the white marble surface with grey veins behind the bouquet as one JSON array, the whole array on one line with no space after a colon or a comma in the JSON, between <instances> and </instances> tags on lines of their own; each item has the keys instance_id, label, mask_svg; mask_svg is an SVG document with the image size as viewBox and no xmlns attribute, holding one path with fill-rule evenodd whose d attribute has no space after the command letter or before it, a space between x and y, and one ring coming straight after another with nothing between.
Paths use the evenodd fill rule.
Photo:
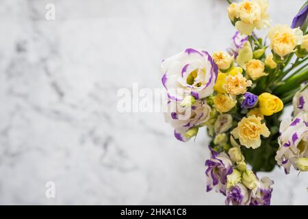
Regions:
<instances>
[{"instance_id":1,"label":"white marble surface with grey veins behind the bouquet","mask_svg":"<svg viewBox=\"0 0 308 219\"><path fill-rule=\"evenodd\" d=\"M304 1L270 1L290 24ZM44 18L55 4L55 21ZM222 205L205 192L207 139L162 114L116 111L119 88L161 88L160 60L225 49L224 0L0 1L0 204ZM262 173L272 204L308 204L308 176ZM45 183L54 181L55 198Z\"/></svg>"}]
</instances>

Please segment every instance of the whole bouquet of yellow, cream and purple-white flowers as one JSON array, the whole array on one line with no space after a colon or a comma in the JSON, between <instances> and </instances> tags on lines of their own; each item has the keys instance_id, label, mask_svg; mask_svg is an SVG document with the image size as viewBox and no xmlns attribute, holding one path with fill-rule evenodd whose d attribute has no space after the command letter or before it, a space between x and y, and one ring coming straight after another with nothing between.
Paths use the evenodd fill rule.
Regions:
<instances>
[{"instance_id":1,"label":"whole bouquet of yellow, cream and purple-white flowers","mask_svg":"<svg viewBox=\"0 0 308 219\"><path fill-rule=\"evenodd\" d=\"M291 26L270 26L267 0L229 3L237 31L227 51L186 49L162 61L165 118L182 142L206 127L207 191L226 205L270 205L274 182L257 171L308 171L308 1ZM267 38L256 35L266 28ZM279 120L291 104L292 118Z\"/></svg>"}]
</instances>

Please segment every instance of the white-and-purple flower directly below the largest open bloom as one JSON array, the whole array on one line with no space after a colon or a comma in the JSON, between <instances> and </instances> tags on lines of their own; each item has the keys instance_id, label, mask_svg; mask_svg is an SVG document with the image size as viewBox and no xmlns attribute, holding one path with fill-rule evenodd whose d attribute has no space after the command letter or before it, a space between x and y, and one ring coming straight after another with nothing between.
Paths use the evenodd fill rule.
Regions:
<instances>
[{"instance_id":1,"label":"white-and-purple flower directly below the largest open bloom","mask_svg":"<svg viewBox=\"0 0 308 219\"><path fill-rule=\"evenodd\" d=\"M187 142L192 138L189 130L202 125L209 120L211 107L203 100L197 100L194 105L185 107L175 101L168 102L168 112L165 113L165 120L175 128L175 138ZM196 129L196 131L198 131Z\"/></svg>"}]
</instances>

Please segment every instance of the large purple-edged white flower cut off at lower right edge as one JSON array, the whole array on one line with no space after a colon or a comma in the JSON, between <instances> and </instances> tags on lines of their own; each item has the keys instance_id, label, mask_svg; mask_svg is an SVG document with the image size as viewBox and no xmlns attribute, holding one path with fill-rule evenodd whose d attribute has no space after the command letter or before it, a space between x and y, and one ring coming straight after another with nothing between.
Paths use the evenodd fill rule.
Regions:
<instances>
[{"instance_id":1,"label":"large purple-edged white flower cut off at lower right edge","mask_svg":"<svg viewBox=\"0 0 308 219\"><path fill-rule=\"evenodd\" d=\"M298 113L292 121L283 120L279 132L279 149L275 159L287 174L291 165L298 170L298 158L308 157L308 112Z\"/></svg>"}]
</instances>

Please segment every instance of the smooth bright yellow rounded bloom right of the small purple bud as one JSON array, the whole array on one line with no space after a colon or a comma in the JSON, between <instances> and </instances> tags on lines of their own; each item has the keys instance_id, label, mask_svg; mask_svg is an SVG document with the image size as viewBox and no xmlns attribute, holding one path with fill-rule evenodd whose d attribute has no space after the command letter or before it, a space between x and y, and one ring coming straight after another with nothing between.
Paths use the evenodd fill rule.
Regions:
<instances>
[{"instance_id":1,"label":"smooth bright yellow rounded bloom right of the small purple bud","mask_svg":"<svg viewBox=\"0 0 308 219\"><path fill-rule=\"evenodd\" d=\"M259 110L264 116L271 116L283 109L283 101L277 96L264 92L259 95Z\"/></svg>"}]
</instances>

